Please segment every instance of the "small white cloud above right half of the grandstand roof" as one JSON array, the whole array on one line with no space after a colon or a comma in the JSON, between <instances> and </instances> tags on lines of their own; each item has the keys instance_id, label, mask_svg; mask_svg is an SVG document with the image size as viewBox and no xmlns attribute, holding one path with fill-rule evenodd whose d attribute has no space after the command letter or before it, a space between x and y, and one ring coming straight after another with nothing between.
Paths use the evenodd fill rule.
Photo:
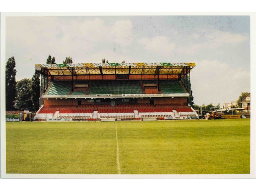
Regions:
<instances>
[{"instance_id":1,"label":"small white cloud above right half of the grandstand roof","mask_svg":"<svg viewBox=\"0 0 256 191\"><path fill-rule=\"evenodd\" d=\"M164 56L170 55L175 47L175 44L171 43L166 36L141 38L138 40L138 43L143 44L147 51Z\"/></svg>"}]
</instances>

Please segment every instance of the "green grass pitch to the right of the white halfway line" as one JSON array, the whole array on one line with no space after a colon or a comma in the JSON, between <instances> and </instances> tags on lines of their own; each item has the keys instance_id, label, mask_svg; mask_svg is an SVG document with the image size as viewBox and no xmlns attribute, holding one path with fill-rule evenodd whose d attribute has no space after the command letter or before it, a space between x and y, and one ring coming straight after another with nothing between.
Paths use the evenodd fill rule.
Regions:
<instances>
[{"instance_id":1,"label":"green grass pitch to the right of the white halfway line","mask_svg":"<svg viewBox=\"0 0 256 191\"><path fill-rule=\"evenodd\" d=\"M122 174L250 173L250 120L124 122L118 130Z\"/></svg>"}]
</instances>

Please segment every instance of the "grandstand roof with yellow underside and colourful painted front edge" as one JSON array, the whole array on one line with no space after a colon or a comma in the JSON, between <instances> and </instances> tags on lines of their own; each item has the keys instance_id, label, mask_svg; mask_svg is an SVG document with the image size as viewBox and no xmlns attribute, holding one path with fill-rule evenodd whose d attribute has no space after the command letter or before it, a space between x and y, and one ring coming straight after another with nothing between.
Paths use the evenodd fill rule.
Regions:
<instances>
[{"instance_id":1,"label":"grandstand roof with yellow underside and colourful painted front edge","mask_svg":"<svg viewBox=\"0 0 256 191\"><path fill-rule=\"evenodd\" d=\"M36 64L43 75L113 75L189 73L195 63L80 63Z\"/></svg>"}]
</instances>

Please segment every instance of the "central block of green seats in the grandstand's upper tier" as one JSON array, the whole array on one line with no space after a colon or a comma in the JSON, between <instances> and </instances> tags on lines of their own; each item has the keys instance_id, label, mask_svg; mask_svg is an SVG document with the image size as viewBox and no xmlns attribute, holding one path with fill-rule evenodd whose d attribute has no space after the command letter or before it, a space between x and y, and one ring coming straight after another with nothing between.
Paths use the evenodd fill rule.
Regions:
<instances>
[{"instance_id":1,"label":"central block of green seats in the grandstand's upper tier","mask_svg":"<svg viewBox=\"0 0 256 191\"><path fill-rule=\"evenodd\" d=\"M140 81L92 81L90 95L142 93Z\"/></svg>"}]
</instances>

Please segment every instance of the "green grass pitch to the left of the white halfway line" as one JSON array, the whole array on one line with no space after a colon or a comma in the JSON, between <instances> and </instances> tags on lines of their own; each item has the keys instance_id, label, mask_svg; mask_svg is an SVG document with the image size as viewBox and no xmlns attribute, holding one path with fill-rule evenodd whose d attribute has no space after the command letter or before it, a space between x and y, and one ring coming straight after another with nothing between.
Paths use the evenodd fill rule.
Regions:
<instances>
[{"instance_id":1,"label":"green grass pitch to the left of the white halfway line","mask_svg":"<svg viewBox=\"0 0 256 191\"><path fill-rule=\"evenodd\" d=\"M116 174L115 127L97 125L6 123L7 173Z\"/></svg>"}]
</instances>

